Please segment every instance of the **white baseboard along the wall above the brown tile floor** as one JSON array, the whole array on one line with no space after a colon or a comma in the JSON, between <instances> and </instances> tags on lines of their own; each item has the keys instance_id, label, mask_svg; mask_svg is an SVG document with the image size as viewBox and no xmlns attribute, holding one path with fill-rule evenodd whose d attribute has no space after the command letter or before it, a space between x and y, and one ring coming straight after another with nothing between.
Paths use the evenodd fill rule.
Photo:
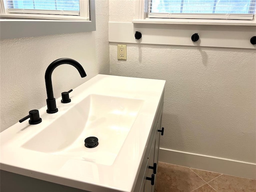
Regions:
<instances>
[{"instance_id":1,"label":"white baseboard along the wall above the brown tile floor","mask_svg":"<svg viewBox=\"0 0 256 192\"><path fill-rule=\"evenodd\" d=\"M256 164L160 148L158 160L169 164L256 179Z\"/></svg>"}]
</instances>

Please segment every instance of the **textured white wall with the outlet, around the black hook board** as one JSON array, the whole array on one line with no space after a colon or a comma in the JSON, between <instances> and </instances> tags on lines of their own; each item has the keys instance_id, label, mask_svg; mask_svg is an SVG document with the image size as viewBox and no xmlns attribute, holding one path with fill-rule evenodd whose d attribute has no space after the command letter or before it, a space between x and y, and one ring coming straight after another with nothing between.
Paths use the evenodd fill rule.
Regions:
<instances>
[{"instance_id":1,"label":"textured white wall with the outlet, around the black hook board","mask_svg":"<svg viewBox=\"0 0 256 192\"><path fill-rule=\"evenodd\" d=\"M110 0L110 21L134 2ZM256 163L255 50L128 44L118 61L110 43L110 74L166 80L160 147Z\"/></svg>"}]
</instances>

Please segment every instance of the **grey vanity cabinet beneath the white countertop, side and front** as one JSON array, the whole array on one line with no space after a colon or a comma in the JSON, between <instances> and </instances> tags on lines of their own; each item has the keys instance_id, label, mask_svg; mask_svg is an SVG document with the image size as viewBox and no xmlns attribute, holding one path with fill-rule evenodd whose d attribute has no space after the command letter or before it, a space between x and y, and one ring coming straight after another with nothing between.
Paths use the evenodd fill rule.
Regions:
<instances>
[{"instance_id":1,"label":"grey vanity cabinet beneath the white countertop, side and front","mask_svg":"<svg viewBox=\"0 0 256 192\"><path fill-rule=\"evenodd\" d=\"M163 100L164 93L162 94L158 110L156 112L156 117L153 122L153 128L148 139L148 145L146 147L146 152L144 158L142 159L142 166L140 168L136 185L133 192L154 192L156 186L156 174L154 174L154 163L156 163L156 172L158 165L158 152L159 152L159 142L161 137L161 120L163 112ZM151 168L150 168L151 167ZM71 188L68 186L63 186L51 182L46 182L43 180L38 180L35 178L22 176L14 174L11 172L6 172L1 170L1 191L21 191L21 192L86 192L77 188ZM154 175L154 184L147 178L152 178ZM10 184L10 181L16 183L16 185ZM22 189L22 190L21 190Z\"/></svg>"}]
</instances>

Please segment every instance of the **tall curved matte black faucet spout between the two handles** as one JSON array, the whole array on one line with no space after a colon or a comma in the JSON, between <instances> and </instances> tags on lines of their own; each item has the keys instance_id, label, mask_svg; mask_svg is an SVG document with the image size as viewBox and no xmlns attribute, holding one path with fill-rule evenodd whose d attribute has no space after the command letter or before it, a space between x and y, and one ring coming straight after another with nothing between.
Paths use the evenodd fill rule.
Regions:
<instances>
[{"instance_id":1,"label":"tall curved matte black faucet spout between the two handles","mask_svg":"<svg viewBox=\"0 0 256 192\"><path fill-rule=\"evenodd\" d=\"M53 70L58 67L59 65L62 64L70 64L74 66L78 72L80 73L81 77L85 77L86 73L84 71L84 68L75 60L70 59L70 58L61 58L57 59L54 62L52 62L48 68L46 69L45 72L45 85L46 85L46 92L47 92L47 113L56 113L58 112L58 108L56 107L56 101L53 96L53 90L52 90L52 72Z\"/></svg>"}]
</instances>

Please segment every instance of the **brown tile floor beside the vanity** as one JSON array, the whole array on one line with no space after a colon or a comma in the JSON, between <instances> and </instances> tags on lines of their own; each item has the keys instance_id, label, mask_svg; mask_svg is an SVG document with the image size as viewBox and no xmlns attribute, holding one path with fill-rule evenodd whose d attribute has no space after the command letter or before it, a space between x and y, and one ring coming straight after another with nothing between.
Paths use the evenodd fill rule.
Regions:
<instances>
[{"instance_id":1,"label":"brown tile floor beside the vanity","mask_svg":"<svg viewBox=\"0 0 256 192\"><path fill-rule=\"evenodd\" d=\"M256 192L256 180L159 162L155 192Z\"/></svg>"}]
</instances>

